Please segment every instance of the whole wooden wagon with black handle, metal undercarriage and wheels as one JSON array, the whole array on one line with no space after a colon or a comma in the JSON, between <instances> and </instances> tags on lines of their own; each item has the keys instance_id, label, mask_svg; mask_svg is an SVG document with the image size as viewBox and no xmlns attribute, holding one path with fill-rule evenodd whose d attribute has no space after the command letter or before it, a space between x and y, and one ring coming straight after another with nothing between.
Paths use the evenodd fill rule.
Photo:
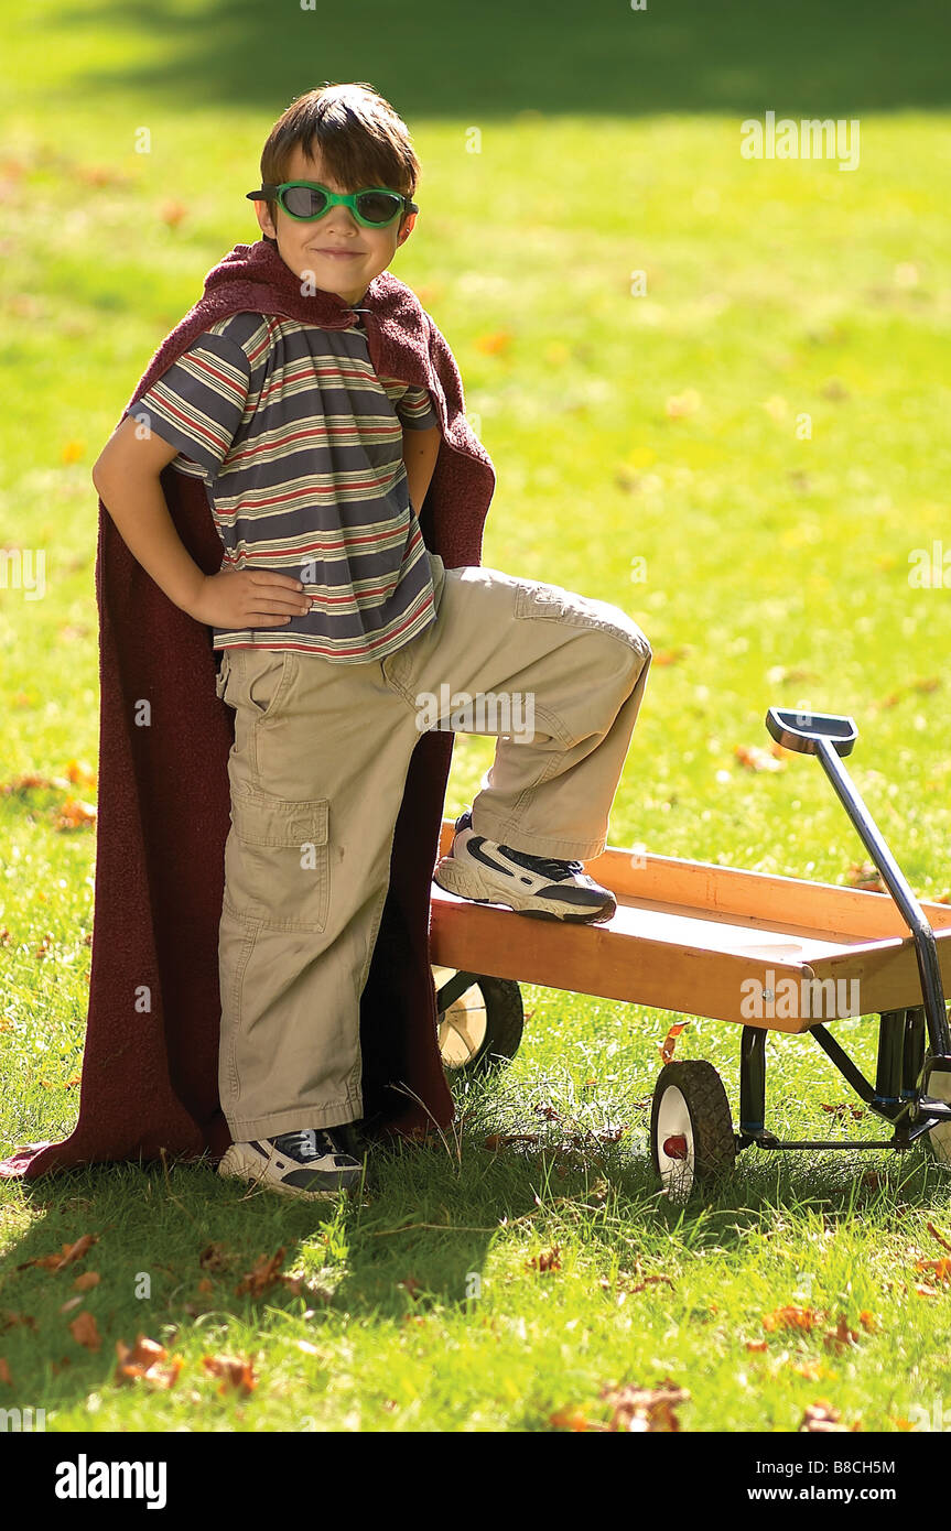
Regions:
<instances>
[{"instance_id":1,"label":"whole wooden wagon with black handle, metal undercarriage and wheels","mask_svg":"<svg viewBox=\"0 0 951 1531\"><path fill-rule=\"evenodd\" d=\"M527 929L507 906L456 899L435 883L432 890L430 960L441 974L436 1001L447 1069L482 1069L493 1056L515 1053L519 983L743 1026L738 1131L709 1063L669 1063L660 1072L651 1147L660 1180L675 1196L729 1170L737 1151L753 1144L769 1150L902 1150L926 1138L934 1156L951 1164L945 1004L951 906L914 897L842 766L858 736L851 718L770 707L766 727L783 747L819 758L891 897L617 847L587 863L617 899L606 925L533 919ZM440 854L449 851L452 836L453 824L444 819ZM858 1010L850 998L855 984ZM818 995L819 1017L813 1014ZM473 1012L484 1015L481 1035L467 1023ZM874 1082L827 1027L828 1021L871 1014L879 1015ZM446 1040L450 1030L456 1056ZM770 1030L809 1032L865 1105L891 1127L891 1138L789 1141L769 1131ZM945 1098L928 1093L931 1081Z\"/></svg>"}]
</instances>

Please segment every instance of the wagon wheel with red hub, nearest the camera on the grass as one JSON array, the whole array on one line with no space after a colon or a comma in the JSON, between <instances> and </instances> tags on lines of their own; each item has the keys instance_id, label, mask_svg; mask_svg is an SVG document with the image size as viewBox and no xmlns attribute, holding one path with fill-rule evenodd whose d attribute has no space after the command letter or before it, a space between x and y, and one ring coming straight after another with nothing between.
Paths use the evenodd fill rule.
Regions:
<instances>
[{"instance_id":1,"label":"wagon wheel with red hub, nearest the camera on the grass","mask_svg":"<svg viewBox=\"0 0 951 1531\"><path fill-rule=\"evenodd\" d=\"M665 1191L677 1200L734 1168L730 1107L711 1063L668 1063L660 1070L651 1107L651 1157Z\"/></svg>"}]
</instances>

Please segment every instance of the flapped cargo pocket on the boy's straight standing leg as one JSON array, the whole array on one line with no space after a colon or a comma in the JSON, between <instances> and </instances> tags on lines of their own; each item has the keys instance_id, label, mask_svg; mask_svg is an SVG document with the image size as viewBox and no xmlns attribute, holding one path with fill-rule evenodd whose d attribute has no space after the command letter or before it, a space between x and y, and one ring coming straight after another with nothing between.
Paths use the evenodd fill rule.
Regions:
<instances>
[{"instance_id":1,"label":"flapped cargo pocket on the boy's straight standing leg","mask_svg":"<svg viewBox=\"0 0 951 1531\"><path fill-rule=\"evenodd\" d=\"M331 900L329 801L266 792L231 798L225 905L273 931L326 928Z\"/></svg>"}]
</instances>

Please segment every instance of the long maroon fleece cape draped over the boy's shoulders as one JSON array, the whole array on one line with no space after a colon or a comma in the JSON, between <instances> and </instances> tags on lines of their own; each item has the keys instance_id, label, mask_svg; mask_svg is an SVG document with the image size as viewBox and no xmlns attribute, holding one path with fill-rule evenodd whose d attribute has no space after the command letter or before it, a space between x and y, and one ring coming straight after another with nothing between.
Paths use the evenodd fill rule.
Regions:
<instances>
[{"instance_id":1,"label":"long maroon fleece cape draped over the boy's shoulders","mask_svg":"<svg viewBox=\"0 0 951 1531\"><path fill-rule=\"evenodd\" d=\"M420 524L447 568L481 562L492 461L464 415L449 343L391 273L358 300L378 375L421 384L443 439ZM345 329L352 308L300 279L265 239L236 245L153 355L124 415L217 320L251 311ZM162 490L205 574L224 548L198 478L172 465ZM230 828L234 713L214 690L213 632L175 606L126 547L100 499L100 808L95 920L80 1119L63 1142L26 1144L0 1174L32 1179L106 1160L221 1157L217 926ZM152 726L136 726L150 703ZM436 1043L430 882L453 735L420 735L406 778L391 885L361 998L363 1130L420 1138L453 1116Z\"/></svg>"}]
</instances>

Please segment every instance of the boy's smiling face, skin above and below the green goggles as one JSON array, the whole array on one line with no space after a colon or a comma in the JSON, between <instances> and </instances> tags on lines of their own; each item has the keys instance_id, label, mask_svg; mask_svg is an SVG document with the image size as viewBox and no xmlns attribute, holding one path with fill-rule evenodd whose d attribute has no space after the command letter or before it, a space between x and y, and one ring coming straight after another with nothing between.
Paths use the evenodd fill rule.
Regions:
<instances>
[{"instance_id":1,"label":"boy's smiling face, skin above and below the green goggles","mask_svg":"<svg viewBox=\"0 0 951 1531\"><path fill-rule=\"evenodd\" d=\"M361 191L342 187L325 170L320 150L315 158L294 145L285 181L319 181L331 191ZM392 190L397 190L395 187ZM358 303L374 277L386 271L398 246L417 222L415 213L394 219L386 228L364 228L349 207L331 207L312 224L300 224L277 208L274 227L266 202L254 202L262 233L277 240L280 259L302 282L311 280L325 292L335 292L345 303Z\"/></svg>"}]
</instances>

